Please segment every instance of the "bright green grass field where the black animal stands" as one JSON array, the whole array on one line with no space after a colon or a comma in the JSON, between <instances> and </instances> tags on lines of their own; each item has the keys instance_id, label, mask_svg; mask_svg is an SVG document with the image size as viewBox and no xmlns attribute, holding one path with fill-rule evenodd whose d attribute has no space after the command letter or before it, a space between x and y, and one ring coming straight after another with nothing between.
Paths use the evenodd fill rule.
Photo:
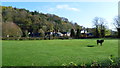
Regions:
<instances>
[{"instance_id":1,"label":"bright green grass field where the black animal stands","mask_svg":"<svg viewBox=\"0 0 120 68\"><path fill-rule=\"evenodd\" d=\"M118 40L105 40L103 46L95 39L3 41L3 66L61 66L74 62L104 62L110 55L118 56ZM87 47L87 46L94 47Z\"/></svg>"}]
</instances>

